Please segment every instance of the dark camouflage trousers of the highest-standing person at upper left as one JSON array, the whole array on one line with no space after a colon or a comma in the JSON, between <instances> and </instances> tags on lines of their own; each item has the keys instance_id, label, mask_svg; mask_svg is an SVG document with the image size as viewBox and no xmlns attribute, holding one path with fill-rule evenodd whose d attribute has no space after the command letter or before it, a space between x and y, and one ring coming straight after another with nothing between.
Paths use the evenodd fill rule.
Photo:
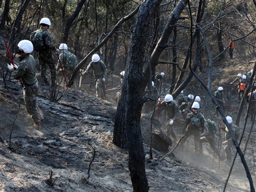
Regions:
<instances>
[{"instance_id":1,"label":"dark camouflage trousers of the highest-standing person at upper left","mask_svg":"<svg viewBox=\"0 0 256 192\"><path fill-rule=\"evenodd\" d=\"M47 82L48 79L46 77L46 70L47 66L50 68L51 72L51 80L52 82L56 81L56 68L55 68L55 59L52 54L44 54L39 53L39 63L40 63L40 71L41 77L43 78L44 82Z\"/></svg>"}]
</instances>

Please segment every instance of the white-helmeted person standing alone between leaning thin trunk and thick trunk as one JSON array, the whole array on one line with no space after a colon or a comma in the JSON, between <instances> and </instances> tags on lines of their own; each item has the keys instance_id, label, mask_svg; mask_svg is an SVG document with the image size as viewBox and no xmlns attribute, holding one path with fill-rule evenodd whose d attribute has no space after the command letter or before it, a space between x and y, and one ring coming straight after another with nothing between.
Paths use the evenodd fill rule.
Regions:
<instances>
[{"instance_id":1,"label":"white-helmeted person standing alone between leaning thin trunk and thick trunk","mask_svg":"<svg viewBox=\"0 0 256 192\"><path fill-rule=\"evenodd\" d=\"M105 99L107 66L105 66L104 62L102 62L98 54L94 54L93 57L91 57L91 62L87 66L85 72L82 73L82 75L87 74L91 69L93 69L94 82L96 82L96 96L97 98Z\"/></svg>"}]
</instances>

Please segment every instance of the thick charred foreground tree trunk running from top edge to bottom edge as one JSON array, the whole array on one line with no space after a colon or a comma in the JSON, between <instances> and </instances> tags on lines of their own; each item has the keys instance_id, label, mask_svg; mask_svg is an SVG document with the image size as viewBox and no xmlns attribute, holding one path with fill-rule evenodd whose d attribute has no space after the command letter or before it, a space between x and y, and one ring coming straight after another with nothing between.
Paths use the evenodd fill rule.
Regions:
<instances>
[{"instance_id":1,"label":"thick charred foreground tree trunk running from top edge to bottom edge","mask_svg":"<svg viewBox=\"0 0 256 192\"><path fill-rule=\"evenodd\" d=\"M143 142L141 137L140 117L143 106L143 66L146 63L146 43L150 35L148 26L153 21L155 10L160 5L161 0L148 0L141 4L137 21L132 33L130 42L129 63L124 79L127 79L127 94L122 93L121 101L125 102L125 116L128 149L129 149L129 170L132 180L133 191L148 191L148 179L145 171L145 157ZM124 87L124 85L123 85ZM124 100L126 99L126 100ZM120 105L120 104L119 104ZM119 107L118 105L118 107ZM123 126L123 125L122 125ZM116 127L116 125L115 125ZM120 129L121 127L119 127Z\"/></svg>"}]
</instances>

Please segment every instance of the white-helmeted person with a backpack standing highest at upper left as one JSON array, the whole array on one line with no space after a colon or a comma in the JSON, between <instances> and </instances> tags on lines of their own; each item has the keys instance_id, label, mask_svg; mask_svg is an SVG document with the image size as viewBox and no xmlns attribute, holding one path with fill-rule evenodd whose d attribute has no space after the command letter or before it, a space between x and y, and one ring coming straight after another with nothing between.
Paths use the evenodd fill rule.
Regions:
<instances>
[{"instance_id":1,"label":"white-helmeted person with a backpack standing highest at upper left","mask_svg":"<svg viewBox=\"0 0 256 192\"><path fill-rule=\"evenodd\" d=\"M46 85L49 85L48 79L46 77L46 69L49 66L51 71L51 80L52 86L55 86L56 81L56 68L55 68L55 59L52 55L52 51L55 51L57 54L60 54L60 50L54 47L52 43L52 37L48 32L49 27L51 26L51 21L49 18L42 18L40 21L40 29L32 32L30 35L30 40L34 45L35 51L38 53L41 77Z\"/></svg>"}]
</instances>

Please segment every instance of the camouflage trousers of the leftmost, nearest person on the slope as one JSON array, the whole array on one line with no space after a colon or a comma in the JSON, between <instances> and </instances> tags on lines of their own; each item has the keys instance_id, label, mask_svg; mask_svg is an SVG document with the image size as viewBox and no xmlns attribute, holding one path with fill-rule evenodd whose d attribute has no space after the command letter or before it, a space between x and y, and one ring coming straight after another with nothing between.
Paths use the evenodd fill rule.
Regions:
<instances>
[{"instance_id":1,"label":"camouflage trousers of the leftmost, nearest person on the slope","mask_svg":"<svg viewBox=\"0 0 256 192\"><path fill-rule=\"evenodd\" d=\"M38 93L38 83L34 85L25 86L23 88L23 98L26 104L26 110L29 115L31 115L35 123L41 121L40 114L37 107L37 93Z\"/></svg>"}]
</instances>

